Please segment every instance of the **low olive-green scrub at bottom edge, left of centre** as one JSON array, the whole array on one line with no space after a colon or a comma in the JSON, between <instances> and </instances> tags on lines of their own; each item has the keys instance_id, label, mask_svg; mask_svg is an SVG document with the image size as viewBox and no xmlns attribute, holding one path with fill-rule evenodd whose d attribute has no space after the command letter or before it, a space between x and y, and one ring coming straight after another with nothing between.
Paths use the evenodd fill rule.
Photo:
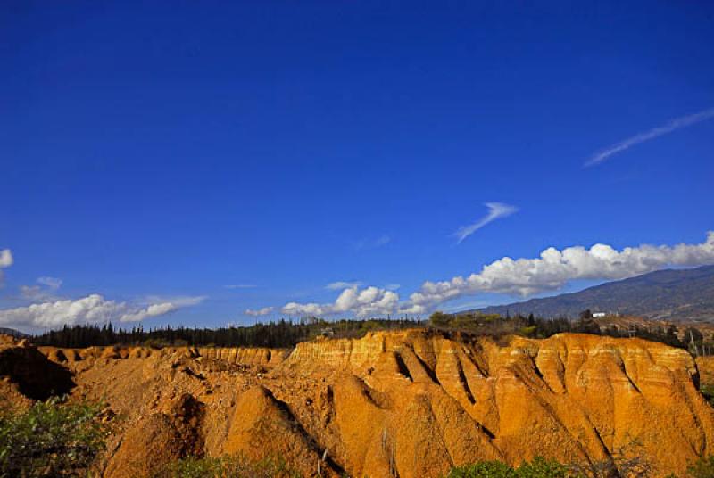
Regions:
<instances>
[{"instance_id":1,"label":"low olive-green scrub at bottom edge, left of centre","mask_svg":"<svg viewBox=\"0 0 714 478\"><path fill-rule=\"evenodd\" d=\"M260 461L237 455L230 457L187 457L166 466L155 478L300 478L282 457Z\"/></svg>"}]
</instances>

